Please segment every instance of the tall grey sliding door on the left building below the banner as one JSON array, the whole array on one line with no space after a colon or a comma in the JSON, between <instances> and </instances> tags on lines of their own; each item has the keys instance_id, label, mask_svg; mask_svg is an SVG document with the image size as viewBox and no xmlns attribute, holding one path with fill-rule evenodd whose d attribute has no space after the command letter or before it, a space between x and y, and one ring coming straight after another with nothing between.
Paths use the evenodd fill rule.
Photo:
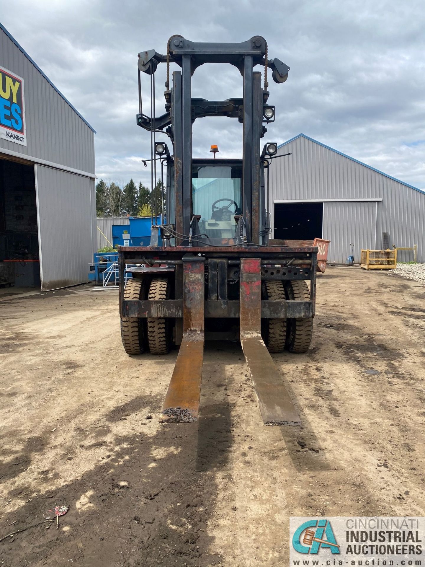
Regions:
<instances>
[{"instance_id":1,"label":"tall grey sliding door on the left building below the banner","mask_svg":"<svg viewBox=\"0 0 425 567\"><path fill-rule=\"evenodd\" d=\"M36 164L41 289L87 282L95 247L94 180Z\"/></svg>"}]
</instances>

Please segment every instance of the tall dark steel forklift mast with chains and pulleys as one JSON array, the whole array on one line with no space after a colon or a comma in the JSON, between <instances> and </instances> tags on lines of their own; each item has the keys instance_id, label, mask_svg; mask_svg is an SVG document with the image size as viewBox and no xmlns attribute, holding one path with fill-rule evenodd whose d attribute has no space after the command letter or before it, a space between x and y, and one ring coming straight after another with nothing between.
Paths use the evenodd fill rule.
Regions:
<instances>
[{"instance_id":1,"label":"tall dark steel forklift mast with chains and pulleys","mask_svg":"<svg viewBox=\"0 0 425 567\"><path fill-rule=\"evenodd\" d=\"M143 113L141 72L151 75L151 100L155 97L155 70L159 63L167 65L165 82L165 113L155 116L155 105L151 103L151 116ZM175 63L181 71L173 71L172 88L169 88L169 64ZM206 100L192 98L192 75L197 67L205 63L229 63L239 69L243 77L243 98L227 100ZM264 66L264 88L261 72L254 71L256 65ZM228 116L243 123L243 158L241 162L241 203L235 203L235 222L237 231L235 242L266 244L268 228L264 189L264 167L270 163L267 147L277 150L272 143L260 153L260 139L266 133L265 124L274 121L275 107L267 104L269 99L267 71L271 70L273 79L283 83L287 79L289 67L278 59L267 59L267 43L264 37L254 36L243 43L195 43L179 35L172 36L167 44L167 54L163 56L155 50L138 54L139 113L137 124L151 132L152 183L156 183L156 160L167 163L167 222L172 234L162 230L167 238L175 236L175 244L188 244L190 235L197 242L218 244L218 240L201 235L198 211L193 208L193 159L192 124L200 117ZM173 154L169 155L163 143L156 143L156 133L164 132L172 141ZM163 154L156 151L164 150ZM273 154L272 154L273 155ZM159 157L158 157L159 156ZM155 159L156 158L156 159ZM209 160L210 166L219 167L222 160ZM171 179L172 178L172 179ZM231 199L226 199L231 201ZM220 201L224 201L221 199ZM227 211L230 206L227 207ZM156 216L152 211L152 216ZM205 230L203 231L205 232ZM225 232L227 234L228 232ZM180 236L180 238L179 238ZM207 240L205 240L207 238ZM170 238L171 239L171 238ZM230 239L233 242L233 239ZM229 239L220 239L229 242Z\"/></svg>"}]
</instances>

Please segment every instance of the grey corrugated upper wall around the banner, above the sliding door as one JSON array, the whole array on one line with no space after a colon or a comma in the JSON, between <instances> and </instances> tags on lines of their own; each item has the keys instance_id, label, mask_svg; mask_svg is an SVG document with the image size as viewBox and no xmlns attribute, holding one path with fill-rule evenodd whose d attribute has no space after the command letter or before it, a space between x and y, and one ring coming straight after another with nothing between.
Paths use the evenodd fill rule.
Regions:
<instances>
[{"instance_id":1,"label":"grey corrugated upper wall around the banner, above the sliding door","mask_svg":"<svg viewBox=\"0 0 425 567\"><path fill-rule=\"evenodd\" d=\"M27 146L2 148L94 174L94 132L0 29L0 65L24 79Z\"/></svg>"}]
</instances>

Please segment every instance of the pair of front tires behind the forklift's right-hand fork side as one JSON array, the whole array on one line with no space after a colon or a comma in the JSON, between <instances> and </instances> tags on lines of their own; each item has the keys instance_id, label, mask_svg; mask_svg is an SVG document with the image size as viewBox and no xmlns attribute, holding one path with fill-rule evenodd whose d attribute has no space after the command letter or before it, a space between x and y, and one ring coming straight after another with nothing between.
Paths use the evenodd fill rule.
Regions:
<instances>
[{"instance_id":1,"label":"pair of front tires behind the forklift's right-hand fork side","mask_svg":"<svg viewBox=\"0 0 425 567\"><path fill-rule=\"evenodd\" d=\"M309 301L310 292L304 280L286 282L266 280L262 284L264 299ZM307 352L313 334L313 319L265 319L262 324L264 342L271 353L281 353L286 347L292 353Z\"/></svg>"}]
</instances>

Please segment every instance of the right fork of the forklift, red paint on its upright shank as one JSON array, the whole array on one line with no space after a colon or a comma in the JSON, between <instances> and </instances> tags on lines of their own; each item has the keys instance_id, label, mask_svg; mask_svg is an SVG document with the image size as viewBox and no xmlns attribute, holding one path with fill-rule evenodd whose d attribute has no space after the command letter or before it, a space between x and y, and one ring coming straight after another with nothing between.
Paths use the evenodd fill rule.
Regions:
<instances>
[{"instance_id":1,"label":"right fork of the forklift, red paint on its upright shank","mask_svg":"<svg viewBox=\"0 0 425 567\"><path fill-rule=\"evenodd\" d=\"M300 418L261 338L261 260L241 259L240 342L265 425L299 425Z\"/></svg>"}]
</instances>

